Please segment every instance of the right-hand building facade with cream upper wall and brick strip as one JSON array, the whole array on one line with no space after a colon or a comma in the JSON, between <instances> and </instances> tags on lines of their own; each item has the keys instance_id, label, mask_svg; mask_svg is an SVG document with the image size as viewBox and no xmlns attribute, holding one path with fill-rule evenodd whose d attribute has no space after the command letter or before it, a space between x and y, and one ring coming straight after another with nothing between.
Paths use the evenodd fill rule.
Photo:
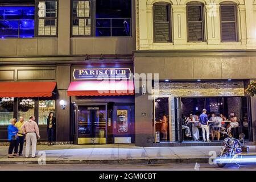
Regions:
<instances>
[{"instance_id":1,"label":"right-hand building facade with cream upper wall and brick strip","mask_svg":"<svg viewBox=\"0 0 256 182\"><path fill-rule=\"evenodd\" d=\"M232 13L226 17L233 16L230 20L236 26L225 24L226 7L232 7L227 11ZM165 11L164 15L162 11L158 11L160 9ZM173 130L172 135L174 135L175 122L180 122L177 121L180 118L175 115L177 112L175 97L181 99L222 97L227 100L232 100L232 97L248 98L245 88L256 77L254 71L256 66L255 10L256 3L252 0L137 1L135 72L158 74L159 93L151 94L149 90L146 94L135 96L135 133L137 133L135 144L139 146L172 145L155 142L154 97L164 96L171 100L168 114L171 121L169 124L172 125ZM196 12L199 12L198 16L195 15ZM162 15L161 18L159 18L160 15ZM195 18L197 23L201 23L202 27L191 24L189 22L191 17ZM169 26L161 27L158 20L160 23L168 23ZM191 26L195 28L191 30L189 28ZM163 30L162 33L156 31L156 28ZM199 30L202 32L201 39L197 40ZM169 31L169 34L164 33L166 31ZM236 38L233 40L226 38L226 32L230 35L236 32ZM156 36L159 35L164 41L157 41ZM193 41L195 39L196 41ZM144 81L140 83L142 87L145 86ZM150 97L153 97L154 101L149 100ZM251 132L253 132L251 141L255 141L256 103L255 98L248 99L250 100ZM237 111L237 108L230 106L226 110L230 113L231 110ZM174 142L174 140L171 141Z\"/></svg>"}]
</instances>

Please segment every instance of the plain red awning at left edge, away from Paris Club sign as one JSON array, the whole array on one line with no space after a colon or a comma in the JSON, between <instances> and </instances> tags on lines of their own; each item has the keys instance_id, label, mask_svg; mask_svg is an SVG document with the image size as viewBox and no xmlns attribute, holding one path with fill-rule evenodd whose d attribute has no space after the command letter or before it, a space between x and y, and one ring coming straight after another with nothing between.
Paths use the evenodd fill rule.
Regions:
<instances>
[{"instance_id":1,"label":"plain red awning at left edge, away from Paris Club sign","mask_svg":"<svg viewBox=\"0 0 256 182\"><path fill-rule=\"evenodd\" d=\"M56 82L0 82L0 97L51 97Z\"/></svg>"}]
</instances>

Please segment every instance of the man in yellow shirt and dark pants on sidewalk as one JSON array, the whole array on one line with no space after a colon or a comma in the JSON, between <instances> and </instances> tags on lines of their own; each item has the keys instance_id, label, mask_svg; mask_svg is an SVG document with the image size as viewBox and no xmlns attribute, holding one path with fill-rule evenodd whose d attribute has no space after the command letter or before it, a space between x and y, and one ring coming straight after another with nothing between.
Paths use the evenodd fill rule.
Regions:
<instances>
[{"instance_id":1,"label":"man in yellow shirt and dark pants on sidewalk","mask_svg":"<svg viewBox=\"0 0 256 182\"><path fill-rule=\"evenodd\" d=\"M14 156L21 156L22 151L23 151L23 145L24 145L24 134L22 131L22 126L24 125L24 117L21 116L19 117L19 122L16 122L15 127L19 130L18 131L18 137L17 137L17 141L16 141L16 146L15 146L15 150L14 150ZM19 148L19 153L18 153L18 148Z\"/></svg>"}]
</instances>

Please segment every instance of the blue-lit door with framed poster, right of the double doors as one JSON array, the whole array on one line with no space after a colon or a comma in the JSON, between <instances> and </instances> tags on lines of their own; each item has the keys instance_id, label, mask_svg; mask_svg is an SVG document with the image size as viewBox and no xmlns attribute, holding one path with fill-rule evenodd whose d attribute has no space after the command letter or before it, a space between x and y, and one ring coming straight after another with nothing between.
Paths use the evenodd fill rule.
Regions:
<instances>
[{"instance_id":1,"label":"blue-lit door with framed poster, right of the double doors","mask_svg":"<svg viewBox=\"0 0 256 182\"><path fill-rule=\"evenodd\" d=\"M114 143L134 143L134 105L114 106Z\"/></svg>"}]
</instances>

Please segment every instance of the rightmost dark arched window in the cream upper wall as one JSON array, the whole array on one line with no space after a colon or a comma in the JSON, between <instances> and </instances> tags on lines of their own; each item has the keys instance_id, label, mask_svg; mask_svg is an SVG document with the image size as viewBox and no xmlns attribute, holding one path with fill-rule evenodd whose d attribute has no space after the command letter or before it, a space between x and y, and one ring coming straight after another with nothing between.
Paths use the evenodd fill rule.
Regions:
<instances>
[{"instance_id":1,"label":"rightmost dark arched window in the cream upper wall","mask_svg":"<svg viewBox=\"0 0 256 182\"><path fill-rule=\"evenodd\" d=\"M237 5L234 3L221 3L221 42L237 42Z\"/></svg>"}]
</instances>

